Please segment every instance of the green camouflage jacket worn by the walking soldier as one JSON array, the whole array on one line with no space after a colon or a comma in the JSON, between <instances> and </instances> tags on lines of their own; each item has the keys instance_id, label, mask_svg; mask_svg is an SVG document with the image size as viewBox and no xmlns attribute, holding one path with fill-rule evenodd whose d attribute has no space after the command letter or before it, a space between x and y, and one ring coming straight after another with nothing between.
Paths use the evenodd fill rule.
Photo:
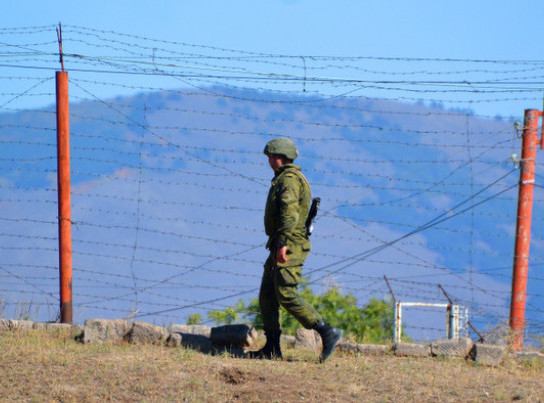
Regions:
<instances>
[{"instance_id":1,"label":"green camouflage jacket worn by the walking soldier","mask_svg":"<svg viewBox=\"0 0 544 403\"><path fill-rule=\"evenodd\" d=\"M306 219L311 198L310 185L298 165L286 164L274 172L264 213L268 249L287 245L291 253L310 250Z\"/></svg>"}]
</instances>

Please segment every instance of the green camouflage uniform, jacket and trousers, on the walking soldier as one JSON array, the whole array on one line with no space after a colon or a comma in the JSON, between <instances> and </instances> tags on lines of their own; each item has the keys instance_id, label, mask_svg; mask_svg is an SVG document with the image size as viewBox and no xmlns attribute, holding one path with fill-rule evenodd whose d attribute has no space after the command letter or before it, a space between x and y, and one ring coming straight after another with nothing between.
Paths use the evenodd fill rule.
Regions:
<instances>
[{"instance_id":1,"label":"green camouflage uniform, jacket and trousers, on the walking soldier","mask_svg":"<svg viewBox=\"0 0 544 403\"><path fill-rule=\"evenodd\" d=\"M307 329L322 320L297 291L311 249L305 225L310 201L310 185L299 166L285 164L274 172L264 215L270 255L259 293L265 332L280 332L280 305ZM276 263L276 250L283 246L287 246L287 262Z\"/></svg>"}]
</instances>

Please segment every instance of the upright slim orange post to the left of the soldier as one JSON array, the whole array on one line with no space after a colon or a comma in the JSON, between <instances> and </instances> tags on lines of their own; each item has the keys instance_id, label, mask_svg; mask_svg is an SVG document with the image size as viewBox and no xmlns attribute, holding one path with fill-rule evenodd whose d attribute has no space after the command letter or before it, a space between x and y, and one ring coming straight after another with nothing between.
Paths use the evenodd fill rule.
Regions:
<instances>
[{"instance_id":1,"label":"upright slim orange post to the left of the soldier","mask_svg":"<svg viewBox=\"0 0 544 403\"><path fill-rule=\"evenodd\" d=\"M72 323L72 218L68 73L57 71L57 184L59 205L60 321Z\"/></svg>"}]
</instances>

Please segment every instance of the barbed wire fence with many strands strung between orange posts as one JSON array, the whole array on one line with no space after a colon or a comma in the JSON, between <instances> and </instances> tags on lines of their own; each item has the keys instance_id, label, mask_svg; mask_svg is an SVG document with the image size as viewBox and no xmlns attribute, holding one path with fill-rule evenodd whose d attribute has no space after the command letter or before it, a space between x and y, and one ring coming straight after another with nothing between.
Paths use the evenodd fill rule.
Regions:
<instances>
[{"instance_id":1,"label":"barbed wire fence with many strands strung between orange posts","mask_svg":"<svg viewBox=\"0 0 544 403\"><path fill-rule=\"evenodd\" d=\"M55 27L0 32L1 306L55 320ZM288 56L70 25L63 36L76 321L184 323L255 298L262 149L286 136L322 200L304 269L316 291L364 305L389 296L386 274L399 300L444 302L442 285L482 331L506 323L520 141L515 117L487 111L540 106L544 61ZM528 339L544 325L542 199L537 186ZM433 315L405 322L408 334L442 335Z\"/></svg>"}]
</instances>

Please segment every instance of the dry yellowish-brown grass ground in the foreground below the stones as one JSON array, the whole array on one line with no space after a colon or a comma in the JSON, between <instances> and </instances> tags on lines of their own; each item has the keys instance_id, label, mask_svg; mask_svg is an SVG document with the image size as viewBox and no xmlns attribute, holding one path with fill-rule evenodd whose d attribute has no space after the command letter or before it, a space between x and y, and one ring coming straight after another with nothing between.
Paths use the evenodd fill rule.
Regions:
<instances>
[{"instance_id":1,"label":"dry yellowish-brown grass ground in the foreground below the stones","mask_svg":"<svg viewBox=\"0 0 544 403\"><path fill-rule=\"evenodd\" d=\"M285 349L284 361L183 348L84 345L45 331L0 333L0 400L544 401L544 364L364 357Z\"/></svg>"}]
</instances>

